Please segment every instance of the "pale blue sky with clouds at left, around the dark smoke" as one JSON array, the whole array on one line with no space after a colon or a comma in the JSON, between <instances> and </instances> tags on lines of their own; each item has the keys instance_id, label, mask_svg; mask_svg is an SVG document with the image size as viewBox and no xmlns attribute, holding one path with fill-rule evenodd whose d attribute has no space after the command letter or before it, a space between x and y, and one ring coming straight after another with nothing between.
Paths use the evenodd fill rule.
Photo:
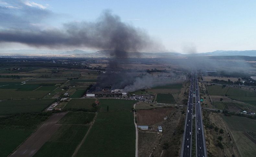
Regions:
<instances>
[{"instance_id":1,"label":"pale blue sky with clouds at left, around the dark smoke","mask_svg":"<svg viewBox=\"0 0 256 157\"><path fill-rule=\"evenodd\" d=\"M83 29L80 25L84 22L85 25L92 22L96 26L98 23L95 21L106 10L111 16L120 17L125 25L140 30L139 34L143 32L143 38L150 38L150 43L155 41L158 48L152 48L152 51L256 50L255 8L256 1L242 0L0 0L0 50L108 48L99 45L91 47L85 43L72 45L70 42L65 46L55 42L58 38L50 40L53 44L44 42L42 46L20 42L25 37L17 39L22 36L21 33L30 38L28 32L32 32L36 37L44 36L45 41L51 33L43 30L54 30L54 35L63 36L62 31L70 28L66 25L74 23ZM63 38L67 36L70 34L65 34ZM61 41L64 41L63 38ZM148 43L145 39L143 42Z\"/></svg>"}]
</instances>

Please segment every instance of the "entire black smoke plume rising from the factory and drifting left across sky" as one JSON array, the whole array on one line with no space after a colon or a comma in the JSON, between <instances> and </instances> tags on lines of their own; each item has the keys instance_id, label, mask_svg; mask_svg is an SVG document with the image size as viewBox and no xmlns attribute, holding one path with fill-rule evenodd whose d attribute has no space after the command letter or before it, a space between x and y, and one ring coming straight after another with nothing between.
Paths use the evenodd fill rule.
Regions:
<instances>
[{"instance_id":1,"label":"entire black smoke plume rising from the factory and drifting left across sky","mask_svg":"<svg viewBox=\"0 0 256 157\"><path fill-rule=\"evenodd\" d=\"M34 47L88 47L112 50L106 73L91 90L124 88L134 82L135 75L123 72L121 64L127 64L127 51L157 50L147 33L121 21L120 17L104 11L96 22L64 24L62 29L6 29L0 31L0 42L18 42Z\"/></svg>"}]
</instances>

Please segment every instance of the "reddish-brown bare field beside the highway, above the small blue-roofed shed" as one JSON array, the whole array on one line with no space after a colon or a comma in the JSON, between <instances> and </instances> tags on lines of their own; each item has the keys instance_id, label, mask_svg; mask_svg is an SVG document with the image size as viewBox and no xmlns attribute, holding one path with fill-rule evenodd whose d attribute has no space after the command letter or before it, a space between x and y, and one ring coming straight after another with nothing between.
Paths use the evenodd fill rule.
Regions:
<instances>
[{"instance_id":1,"label":"reddish-brown bare field beside the highway, above the small blue-roofed shed","mask_svg":"<svg viewBox=\"0 0 256 157\"><path fill-rule=\"evenodd\" d=\"M165 108L154 108L150 110L137 110L137 124L138 125L153 125L164 121L165 117L175 111L175 108L165 107Z\"/></svg>"}]
</instances>

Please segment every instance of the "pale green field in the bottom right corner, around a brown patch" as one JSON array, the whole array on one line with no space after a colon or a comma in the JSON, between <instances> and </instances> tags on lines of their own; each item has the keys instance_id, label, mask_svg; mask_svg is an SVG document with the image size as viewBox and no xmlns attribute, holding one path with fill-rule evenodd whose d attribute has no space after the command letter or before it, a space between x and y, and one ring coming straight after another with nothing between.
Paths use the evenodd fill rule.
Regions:
<instances>
[{"instance_id":1,"label":"pale green field in the bottom right corner, around a brown patch","mask_svg":"<svg viewBox=\"0 0 256 157\"><path fill-rule=\"evenodd\" d=\"M233 140L238 148L238 152L242 157L254 156L256 153L256 144L250 140L244 133L256 132L256 121L245 117L223 116L231 130Z\"/></svg>"}]
</instances>

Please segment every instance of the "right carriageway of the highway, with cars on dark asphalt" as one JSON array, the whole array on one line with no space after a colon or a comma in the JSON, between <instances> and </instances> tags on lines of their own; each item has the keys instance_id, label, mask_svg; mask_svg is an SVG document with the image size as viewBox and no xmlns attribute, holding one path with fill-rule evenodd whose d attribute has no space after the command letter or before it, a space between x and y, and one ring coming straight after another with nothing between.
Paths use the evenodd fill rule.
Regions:
<instances>
[{"instance_id":1,"label":"right carriageway of the highway, with cars on dark asphalt","mask_svg":"<svg viewBox=\"0 0 256 157\"><path fill-rule=\"evenodd\" d=\"M195 75L195 111L196 111L196 154L197 157L206 157L206 147L204 139L204 127L200 105L200 95L197 75Z\"/></svg>"}]
</instances>

